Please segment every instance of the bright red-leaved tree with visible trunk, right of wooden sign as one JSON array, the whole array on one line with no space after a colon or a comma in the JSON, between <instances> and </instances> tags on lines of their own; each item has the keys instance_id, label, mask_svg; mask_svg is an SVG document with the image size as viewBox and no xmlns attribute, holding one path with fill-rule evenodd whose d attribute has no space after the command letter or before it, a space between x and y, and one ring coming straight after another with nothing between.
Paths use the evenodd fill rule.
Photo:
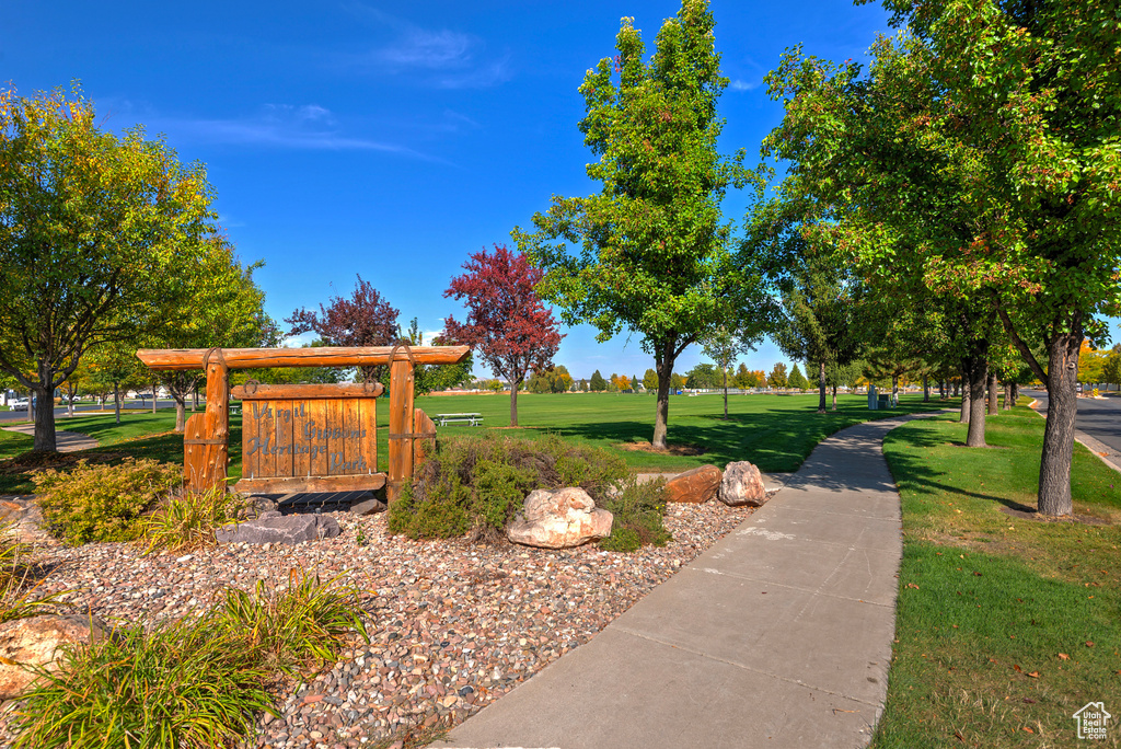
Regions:
<instances>
[{"instance_id":1,"label":"bright red-leaved tree with visible trunk, right of wooden sign","mask_svg":"<svg viewBox=\"0 0 1121 749\"><path fill-rule=\"evenodd\" d=\"M548 369L560 346L553 313L537 296L540 268L525 252L495 244L463 263L444 296L465 300L467 320L444 321L450 339L478 351L495 376L510 382L510 426L518 426L518 387L532 370Z\"/></svg>"}]
</instances>

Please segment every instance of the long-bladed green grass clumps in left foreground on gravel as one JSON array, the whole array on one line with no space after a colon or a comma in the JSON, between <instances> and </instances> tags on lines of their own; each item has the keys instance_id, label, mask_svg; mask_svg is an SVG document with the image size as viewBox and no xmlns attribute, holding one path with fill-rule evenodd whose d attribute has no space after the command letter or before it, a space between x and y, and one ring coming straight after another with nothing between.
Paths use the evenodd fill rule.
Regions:
<instances>
[{"instance_id":1,"label":"long-bladed green grass clumps in left foreground on gravel","mask_svg":"<svg viewBox=\"0 0 1121 749\"><path fill-rule=\"evenodd\" d=\"M15 747L245 746L274 710L278 672L334 660L353 632L369 641L358 597L337 579L294 575L284 590L226 590L202 617L65 646L63 667L40 672L15 711Z\"/></svg>"}]
</instances>

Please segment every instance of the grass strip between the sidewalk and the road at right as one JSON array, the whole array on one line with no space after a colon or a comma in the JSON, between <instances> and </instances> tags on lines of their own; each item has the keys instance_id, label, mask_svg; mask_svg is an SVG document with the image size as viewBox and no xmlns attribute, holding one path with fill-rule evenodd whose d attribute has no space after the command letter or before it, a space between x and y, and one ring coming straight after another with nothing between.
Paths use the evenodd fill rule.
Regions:
<instances>
[{"instance_id":1,"label":"grass strip between the sidewalk and the road at right","mask_svg":"<svg viewBox=\"0 0 1121 749\"><path fill-rule=\"evenodd\" d=\"M1077 710L1121 705L1121 474L1075 445L1075 512L1108 525L1008 515L1035 508L1043 427L1020 407L988 450L952 418L884 441L905 540L873 747L1073 747ZM1114 719L1095 746L1119 742Z\"/></svg>"}]
</instances>

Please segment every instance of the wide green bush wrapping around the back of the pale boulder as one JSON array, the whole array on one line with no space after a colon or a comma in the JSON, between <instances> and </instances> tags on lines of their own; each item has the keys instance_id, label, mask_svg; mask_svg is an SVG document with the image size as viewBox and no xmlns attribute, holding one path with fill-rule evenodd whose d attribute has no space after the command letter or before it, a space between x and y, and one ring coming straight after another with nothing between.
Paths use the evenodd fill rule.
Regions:
<instances>
[{"instance_id":1,"label":"wide green bush wrapping around the back of the pale boulder","mask_svg":"<svg viewBox=\"0 0 1121 749\"><path fill-rule=\"evenodd\" d=\"M614 517L604 548L665 544L665 482L639 484L623 460L558 436L453 436L417 468L389 507L389 530L410 538L451 538L471 531L495 540L534 489L581 487Z\"/></svg>"}]
</instances>

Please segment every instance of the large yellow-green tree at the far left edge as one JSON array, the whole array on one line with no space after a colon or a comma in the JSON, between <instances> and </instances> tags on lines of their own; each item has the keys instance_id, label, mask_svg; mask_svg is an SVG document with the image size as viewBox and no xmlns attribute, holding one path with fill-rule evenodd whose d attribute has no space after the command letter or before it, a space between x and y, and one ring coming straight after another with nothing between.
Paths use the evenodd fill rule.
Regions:
<instances>
[{"instance_id":1,"label":"large yellow-green tree at the far left edge","mask_svg":"<svg viewBox=\"0 0 1121 749\"><path fill-rule=\"evenodd\" d=\"M0 370L49 404L82 354L173 298L210 212L201 165L140 129L100 129L81 91L0 92ZM55 412L35 415L55 450Z\"/></svg>"}]
</instances>

